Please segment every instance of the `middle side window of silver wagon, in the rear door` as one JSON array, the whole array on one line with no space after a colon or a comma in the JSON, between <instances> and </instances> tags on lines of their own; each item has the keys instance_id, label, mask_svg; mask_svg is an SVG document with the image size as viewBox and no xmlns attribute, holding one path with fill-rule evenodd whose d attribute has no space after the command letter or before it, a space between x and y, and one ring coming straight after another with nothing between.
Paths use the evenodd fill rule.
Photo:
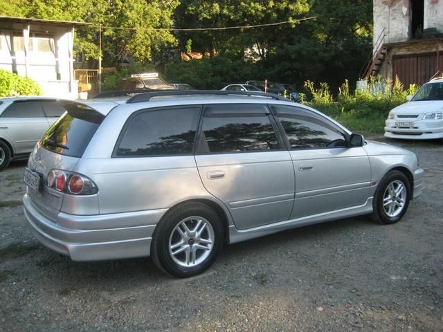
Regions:
<instances>
[{"instance_id":1,"label":"middle side window of silver wagon, in the rear door","mask_svg":"<svg viewBox=\"0 0 443 332\"><path fill-rule=\"evenodd\" d=\"M210 153L279 149L264 105L218 105L205 111L202 140Z\"/></svg>"}]
</instances>

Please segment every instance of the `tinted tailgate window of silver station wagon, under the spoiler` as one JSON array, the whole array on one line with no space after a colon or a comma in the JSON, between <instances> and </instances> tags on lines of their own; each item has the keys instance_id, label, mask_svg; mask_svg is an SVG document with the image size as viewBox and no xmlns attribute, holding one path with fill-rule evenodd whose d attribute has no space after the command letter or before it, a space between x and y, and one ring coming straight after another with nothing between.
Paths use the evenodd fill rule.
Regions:
<instances>
[{"instance_id":1,"label":"tinted tailgate window of silver station wagon, under the spoiler","mask_svg":"<svg viewBox=\"0 0 443 332\"><path fill-rule=\"evenodd\" d=\"M40 144L57 154L80 158L105 116L73 102L63 106L68 112L46 131Z\"/></svg>"}]
</instances>

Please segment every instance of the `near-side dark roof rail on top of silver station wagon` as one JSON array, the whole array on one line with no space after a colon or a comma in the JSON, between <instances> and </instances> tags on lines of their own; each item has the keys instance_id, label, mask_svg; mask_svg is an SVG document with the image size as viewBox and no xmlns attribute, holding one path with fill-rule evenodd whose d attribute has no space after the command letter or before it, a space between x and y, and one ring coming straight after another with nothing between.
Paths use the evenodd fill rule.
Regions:
<instances>
[{"instance_id":1,"label":"near-side dark roof rail on top of silver station wagon","mask_svg":"<svg viewBox=\"0 0 443 332\"><path fill-rule=\"evenodd\" d=\"M138 93L129 98L126 103L133 104L135 102L149 102L153 97L169 96L169 95L239 95L249 97L266 97L275 100L289 102L291 100L275 95L273 93L264 93L261 91L226 91L226 90L156 90L155 92Z\"/></svg>"}]
</instances>

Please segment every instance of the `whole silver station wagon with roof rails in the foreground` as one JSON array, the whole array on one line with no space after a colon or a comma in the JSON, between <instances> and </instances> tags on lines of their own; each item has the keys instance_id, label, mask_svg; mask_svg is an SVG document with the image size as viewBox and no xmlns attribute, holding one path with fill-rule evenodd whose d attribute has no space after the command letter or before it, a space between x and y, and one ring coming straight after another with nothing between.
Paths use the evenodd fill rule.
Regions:
<instances>
[{"instance_id":1,"label":"whole silver station wagon with roof rails in the foreground","mask_svg":"<svg viewBox=\"0 0 443 332\"><path fill-rule=\"evenodd\" d=\"M361 214L395 223L422 192L415 154L277 95L60 103L24 173L24 213L75 261L151 256L190 277L224 243Z\"/></svg>"}]
</instances>

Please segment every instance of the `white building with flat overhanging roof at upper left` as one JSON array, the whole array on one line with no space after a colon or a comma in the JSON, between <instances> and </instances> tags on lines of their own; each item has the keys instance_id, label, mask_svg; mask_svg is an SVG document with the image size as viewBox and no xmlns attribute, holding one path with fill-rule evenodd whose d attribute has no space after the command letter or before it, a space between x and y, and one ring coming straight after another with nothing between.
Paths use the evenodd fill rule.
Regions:
<instances>
[{"instance_id":1,"label":"white building with flat overhanging roof at upper left","mask_svg":"<svg viewBox=\"0 0 443 332\"><path fill-rule=\"evenodd\" d=\"M35 80L44 95L77 98L69 21L0 17L0 68Z\"/></svg>"}]
</instances>

